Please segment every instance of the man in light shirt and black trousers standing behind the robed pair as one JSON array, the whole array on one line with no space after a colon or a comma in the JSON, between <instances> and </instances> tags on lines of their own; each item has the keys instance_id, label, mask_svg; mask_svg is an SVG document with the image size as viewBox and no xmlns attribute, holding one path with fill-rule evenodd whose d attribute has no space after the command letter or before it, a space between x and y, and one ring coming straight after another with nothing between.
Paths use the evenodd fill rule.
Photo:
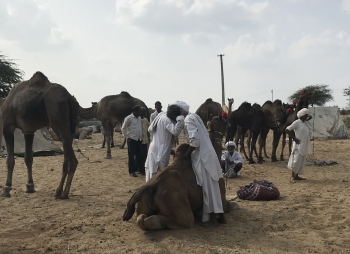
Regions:
<instances>
[{"instance_id":1,"label":"man in light shirt and black trousers standing behind the robed pair","mask_svg":"<svg viewBox=\"0 0 350 254\"><path fill-rule=\"evenodd\" d=\"M137 176L137 168L139 168L141 175L145 175L145 159L142 154L141 113L141 107L139 105L134 106L132 113L125 117L122 126L122 133L128 144L129 174L134 177ZM138 166L136 166L135 157Z\"/></svg>"}]
</instances>

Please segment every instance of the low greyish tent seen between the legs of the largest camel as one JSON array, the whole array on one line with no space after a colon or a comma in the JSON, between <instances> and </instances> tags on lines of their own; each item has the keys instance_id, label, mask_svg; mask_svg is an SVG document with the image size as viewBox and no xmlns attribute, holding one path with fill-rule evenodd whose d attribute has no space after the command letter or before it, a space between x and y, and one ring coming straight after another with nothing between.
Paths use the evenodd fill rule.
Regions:
<instances>
[{"instance_id":1,"label":"low greyish tent seen between the legs of the largest camel","mask_svg":"<svg viewBox=\"0 0 350 254\"><path fill-rule=\"evenodd\" d=\"M24 135L20 129L16 129L15 135L15 154L23 156L25 153ZM2 137L0 155L7 154L7 148L4 137ZM61 148L55 144L47 128L39 129L34 133L33 141L34 155L54 155L62 153Z\"/></svg>"}]
</instances>

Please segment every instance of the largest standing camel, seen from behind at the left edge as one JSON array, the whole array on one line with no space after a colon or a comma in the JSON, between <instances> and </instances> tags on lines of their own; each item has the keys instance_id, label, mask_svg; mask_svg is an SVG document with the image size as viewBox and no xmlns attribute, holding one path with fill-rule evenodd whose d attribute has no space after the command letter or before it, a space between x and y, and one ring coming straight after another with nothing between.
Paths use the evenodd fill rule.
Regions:
<instances>
[{"instance_id":1,"label":"largest standing camel, seen from behind at the left edge","mask_svg":"<svg viewBox=\"0 0 350 254\"><path fill-rule=\"evenodd\" d=\"M55 197L67 199L78 161L75 157L72 140L77 123L79 103L61 85L51 83L41 72L36 72L27 81L13 86L2 105L4 138L7 145L7 180L2 188L3 197L10 197L14 160L14 131L22 130L25 139L24 161L27 166L27 193L35 192L32 177L33 138L34 132L51 125L59 135L63 150L64 162L61 182L56 189ZM66 185L63 189L65 181Z\"/></svg>"}]
</instances>

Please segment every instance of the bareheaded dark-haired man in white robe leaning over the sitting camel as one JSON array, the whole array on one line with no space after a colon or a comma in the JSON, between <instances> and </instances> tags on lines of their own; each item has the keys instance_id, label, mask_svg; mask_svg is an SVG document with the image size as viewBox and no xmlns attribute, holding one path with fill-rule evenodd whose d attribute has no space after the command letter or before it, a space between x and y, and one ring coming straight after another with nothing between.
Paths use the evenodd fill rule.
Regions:
<instances>
[{"instance_id":1,"label":"bareheaded dark-haired man in white robe leaning over the sitting camel","mask_svg":"<svg viewBox=\"0 0 350 254\"><path fill-rule=\"evenodd\" d=\"M171 112L170 112L171 111ZM168 112L161 112L148 128L153 139L149 146L145 163L146 182L160 169L169 164L172 142L180 135L184 127L184 116L180 115L180 108L170 105Z\"/></svg>"}]
</instances>

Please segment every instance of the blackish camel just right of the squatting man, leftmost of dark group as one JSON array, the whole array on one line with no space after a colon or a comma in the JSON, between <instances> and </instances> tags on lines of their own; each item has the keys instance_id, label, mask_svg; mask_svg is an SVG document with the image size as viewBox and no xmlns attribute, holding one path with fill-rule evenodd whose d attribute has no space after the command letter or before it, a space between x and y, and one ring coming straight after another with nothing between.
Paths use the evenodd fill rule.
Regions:
<instances>
[{"instance_id":1,"label":"blackish camel just right of the squatting man, leftmost of dark group","mask_svg":"<svg viewBox=\"0 0 350 254\"><path fill-rule=\"evenodd\" d=\"M252 132L252 142L249 149L249 164L255 163L255 161L252 158L253 151L256 152L256 141L258 139L258 136L261 132L261 130L264 127L275 129L279 127L280 121L285 121L285 119L275 119L274 121L271 121L268 119L264 112L261 110L260 105L254 105L252 106L248 102L243 102L239 108L231 113L229 116L229 128L226 135L226 142L229 140L233 140L233 137L236 134L237 127L242 127L241 132L241 146L244 147L244 136L247 130L250 130ZM245 150L243 149L244 154ZM245 154L246 156L246 154ZM259 163L262 161L259 160Z\"/></svg>"}]
</instances>

